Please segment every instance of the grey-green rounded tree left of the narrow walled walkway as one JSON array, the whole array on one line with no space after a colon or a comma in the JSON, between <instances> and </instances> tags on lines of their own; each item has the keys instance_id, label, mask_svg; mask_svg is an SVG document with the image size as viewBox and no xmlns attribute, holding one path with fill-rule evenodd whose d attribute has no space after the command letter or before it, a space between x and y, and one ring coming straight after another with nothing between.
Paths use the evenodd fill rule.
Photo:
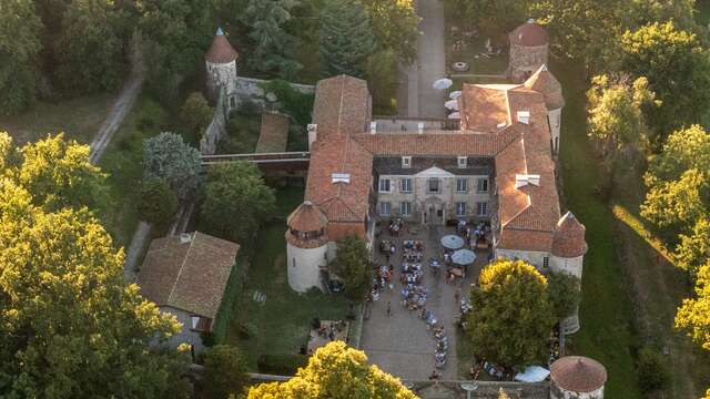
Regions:
<instances>
[{"instance_id":1,"label":"grey-green rounded tree left of the narrow walled walkway","mask_svg":"<svg viewBox=\"0 0 710 399\"><path fill-rule=\"evenodd\" d=\"M200 185L200 152L175 133L143 141L143 167L145 178L164 178L179 200L187 198Z\"/></svg>"}]
</instances>

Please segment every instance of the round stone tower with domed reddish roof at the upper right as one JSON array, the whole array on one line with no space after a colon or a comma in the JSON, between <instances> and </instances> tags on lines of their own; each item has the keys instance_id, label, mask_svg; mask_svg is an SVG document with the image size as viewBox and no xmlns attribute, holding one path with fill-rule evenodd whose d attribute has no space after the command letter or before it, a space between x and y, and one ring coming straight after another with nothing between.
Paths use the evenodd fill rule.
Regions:
<instances>
[{"instance_id":1,"label":"round stone tower with domed reddish roof at the upper right","mask_svg":"<svg viewBox=\"0 0 710 399\"><path fill-rule=\"evenodd\" d=\"M532 20L516 28L508 34L510 42L510 59L508 75L515 82L523 82L547 64L550 38L545 28Z\"/></svg>"}]
</instances>

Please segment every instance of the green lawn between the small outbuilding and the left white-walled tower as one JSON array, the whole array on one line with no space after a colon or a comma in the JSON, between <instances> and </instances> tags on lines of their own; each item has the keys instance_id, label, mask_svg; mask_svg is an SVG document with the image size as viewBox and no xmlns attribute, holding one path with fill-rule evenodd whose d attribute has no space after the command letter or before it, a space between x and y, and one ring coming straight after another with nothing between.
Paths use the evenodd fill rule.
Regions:
<instances>
[{"instance_id":1,"label":"green lawn between the small outbuilding and the left white-walled tower","mask_svg":"<svg viewBox=\"0 0 710 399\"><path fill-rule=\"evenodd\" d=\"M303 188L286 188L277 195L278 216L293 211L303 201ZM347 304L342 296L332 296L318 290L297 294L288 287L286 276L286 225L272 222L260 231L253 247L246 290L235 306L237 315L231 323L226 342L236 345L245 355L250 368L256 369L258 356L295 355L306 344L311 320L343 319ZM266 296L264 304L252 299L257 290ZM256 326L257 334L244 339L240 337L240 325Z\"/></svg>"}]
</instances>

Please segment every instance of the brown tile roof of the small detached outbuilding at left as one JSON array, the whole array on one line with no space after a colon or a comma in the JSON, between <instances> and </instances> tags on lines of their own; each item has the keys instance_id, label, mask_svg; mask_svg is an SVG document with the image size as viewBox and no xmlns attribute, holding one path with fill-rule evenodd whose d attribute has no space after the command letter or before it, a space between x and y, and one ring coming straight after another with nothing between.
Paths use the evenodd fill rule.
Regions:
<instances>
[{"instance_id":1,"label":"brown tile roof of the small detached outbuilding at left","mask_svg":"<svg viewBox=\"0 0 710 399\"><path fill-rule=\"evenodd\" d=\"M216 316L240 248L237 244L194 232L154 239L138 276L141 294L159 306Z\"/></svg>"}]
</instances>

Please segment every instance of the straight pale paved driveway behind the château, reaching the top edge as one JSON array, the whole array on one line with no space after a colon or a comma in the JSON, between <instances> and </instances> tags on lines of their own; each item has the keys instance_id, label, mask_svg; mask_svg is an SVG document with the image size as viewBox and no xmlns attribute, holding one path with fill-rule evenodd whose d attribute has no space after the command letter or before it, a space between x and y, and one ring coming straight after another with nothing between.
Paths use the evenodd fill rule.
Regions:
<instances>
[{"instance_id":1,"label":"straight pale paved driveway behind the ch\u00e2teau, reaching the top edge","mask_svg":"<svg viewBox=\"0 0 710 399\"><path fill-rule=\"evenodd\" d=\"M399 103L406 101L402 111L409 117L445 117L446 91L432 88L434 81L446 76L444 2L418 0L417 13L422 17L417 61L406 69L407 90L400 91Z\"/></svg>"}]
</instances>

